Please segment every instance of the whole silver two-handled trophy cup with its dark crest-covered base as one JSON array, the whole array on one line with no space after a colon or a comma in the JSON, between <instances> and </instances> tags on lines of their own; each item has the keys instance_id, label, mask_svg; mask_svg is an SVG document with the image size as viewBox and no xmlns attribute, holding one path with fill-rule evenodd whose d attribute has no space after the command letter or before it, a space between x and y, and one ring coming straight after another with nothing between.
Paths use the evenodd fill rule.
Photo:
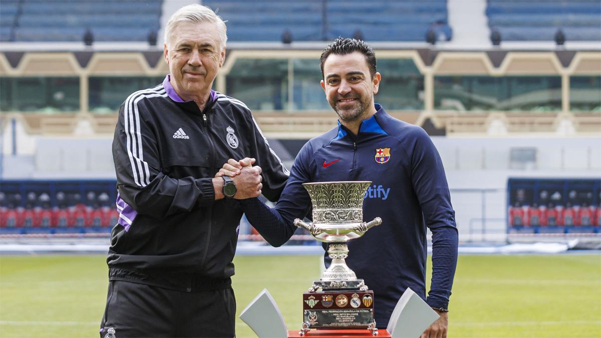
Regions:
<instances>
[{"instance_id":1,"label":"whole silver two-handled trophy cup with its dark crest-covered base","mask_svg":"<svg viewBox=\"0 0 601 338\"><path fill-rule=\"evenodd\" d=\"M294 226L328 243L332 263L303 293L301 336L311 328L367 328L377 335L373 291L344 262L349 254L346 242L382 223L379 217L363 221L363 199L370 185L370 181L303 184L311 196L313 223L297 218Z\"/></svg>"}]
</instances>

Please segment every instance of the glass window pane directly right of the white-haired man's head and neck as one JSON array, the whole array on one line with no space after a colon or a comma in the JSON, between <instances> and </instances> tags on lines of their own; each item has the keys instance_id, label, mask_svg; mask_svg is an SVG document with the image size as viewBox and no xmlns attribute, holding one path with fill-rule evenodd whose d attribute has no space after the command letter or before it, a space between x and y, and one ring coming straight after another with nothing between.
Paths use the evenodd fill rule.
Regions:
<instances>
[{"instance_id":1,"label":"glass window pane directly right of the white-haired man's head and neck","mask_svg":"<svg viewBox=\"0 0 601 338\"><path fill-rule=\"evenodd\" d=\"M248 108L282 110L288 103L288 60L239 59L225 77L226 93Z\"/></svg>"}]
</instances>

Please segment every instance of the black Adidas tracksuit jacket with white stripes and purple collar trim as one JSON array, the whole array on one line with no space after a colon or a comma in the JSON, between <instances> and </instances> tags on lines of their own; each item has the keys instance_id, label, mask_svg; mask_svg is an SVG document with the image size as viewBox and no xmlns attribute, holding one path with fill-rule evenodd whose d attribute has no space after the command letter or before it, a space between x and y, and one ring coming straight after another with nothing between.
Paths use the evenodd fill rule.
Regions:
<instances>
[{"instance_id":1,"label":"black Adidas tracksuit jacket with white stripes and purple collar trim","mask_svg":"<svg viewBox=\"0 0 601 338\"><path fill-rule=\"evenodd\" d=\"M112 145L120 219L112 229L109 280L211 289L231 283L239 201L215 201L212 177L228 159L263 169L263 195L276 201L288 170L244 103L211 91L203 111L169 84L131 94Z\"/></svg>"}]
</instances>

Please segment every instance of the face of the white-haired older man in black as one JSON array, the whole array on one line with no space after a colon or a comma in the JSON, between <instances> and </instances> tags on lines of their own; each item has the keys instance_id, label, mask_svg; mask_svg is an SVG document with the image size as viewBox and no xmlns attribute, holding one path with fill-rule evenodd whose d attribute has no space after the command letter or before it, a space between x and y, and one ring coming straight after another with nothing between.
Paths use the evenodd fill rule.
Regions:
<instances>
[{"instance_id":1,"label":"face of the white-haired older man in black","mask_svg":"<svg viewBox=\"0 0 601 338\"><path fill-rule=\"evenodd\" d=\"M217 71L223 66L225 48L220 45L217 29L210 22L179 23L169 46L163 46L171 85L184 100L206 100Z\"/></svg>"}]
</instances>

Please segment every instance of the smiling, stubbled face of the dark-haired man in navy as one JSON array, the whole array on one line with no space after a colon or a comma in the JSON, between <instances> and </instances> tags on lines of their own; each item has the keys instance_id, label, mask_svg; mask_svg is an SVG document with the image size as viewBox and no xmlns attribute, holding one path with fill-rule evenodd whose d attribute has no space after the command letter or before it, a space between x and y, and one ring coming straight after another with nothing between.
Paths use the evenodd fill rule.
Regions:
<instances>
[{"instance_id":1,"label":"smiling, stubbled face of the dark-haired man in navy","mask_svg":"<svg viewBox=\"0 0 601 338\"><path fill-rule=\"evenodd\" d=\"M330 54L323 63L323 76L326 99L342 123L360 123L376 112L374 94L380 73L371 77L363 54Z\"/></svg>"}]
</instances>

